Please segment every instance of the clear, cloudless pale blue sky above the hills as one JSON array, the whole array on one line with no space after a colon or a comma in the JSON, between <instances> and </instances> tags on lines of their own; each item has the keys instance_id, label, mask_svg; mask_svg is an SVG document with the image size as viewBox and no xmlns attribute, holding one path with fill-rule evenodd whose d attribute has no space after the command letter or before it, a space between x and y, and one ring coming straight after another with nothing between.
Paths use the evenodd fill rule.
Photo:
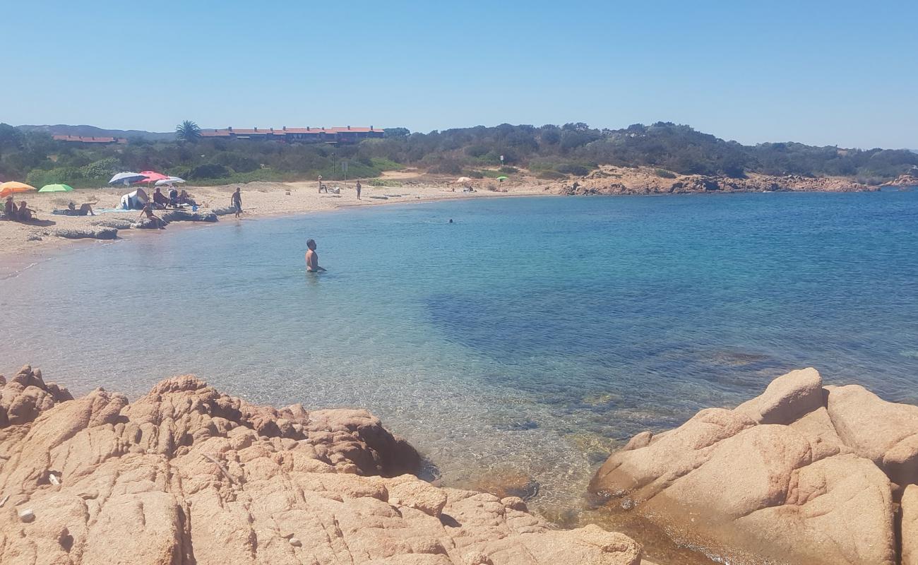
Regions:
<instances>
[{"instance_id":1,"label":"clear, cloudless pale blue sky above the hills","mask_svg":"<svg viewBox=\"0 0 918 565\"><path fill-rule=\"evenodd\" d=\"M657 120L918 148L918 2L4 2L0 121Z\"/></svg>"}]
</instances>

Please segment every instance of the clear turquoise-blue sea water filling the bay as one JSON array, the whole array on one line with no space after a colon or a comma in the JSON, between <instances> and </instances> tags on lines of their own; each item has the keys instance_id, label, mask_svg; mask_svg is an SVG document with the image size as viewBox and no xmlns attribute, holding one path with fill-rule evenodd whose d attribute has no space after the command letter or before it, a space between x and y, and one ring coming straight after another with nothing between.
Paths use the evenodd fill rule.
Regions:
<instances>
[{"instance_id":1,"label":"clear turquoise-blue sea water filling the bay","mask_svg":"<svg viewBox=\"0 0 918 565\"><path fill-rule=\"evenodd\" d=\"M533 507L576 506L613 446L795 367L918 402L916 223L918 193L882 192L476 199L140 233L0 281L0 370L134 397L196 373L255 402L365 406L446 484L519 471ZM304 272L309 237L326 274Z\"/></svg>"}]
</instances>

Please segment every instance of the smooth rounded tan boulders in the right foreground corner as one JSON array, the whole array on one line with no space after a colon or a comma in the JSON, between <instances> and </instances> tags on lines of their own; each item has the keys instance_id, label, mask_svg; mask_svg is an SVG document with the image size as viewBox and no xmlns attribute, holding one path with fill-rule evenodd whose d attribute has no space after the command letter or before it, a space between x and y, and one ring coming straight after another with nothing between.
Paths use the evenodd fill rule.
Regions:
<instances>
[{"instance_id":1,"label":"smooth rounded tan boulders in the right foreground corner","mask_svg":"<svg viewBox=\"0 0 918 565\"><path fill-rule=\"evenodd\" d=\"M918 564L918 406L825 386L812 368L733 410L635 435L590 484L732 559Z\"/></svg>"}]
</instances>

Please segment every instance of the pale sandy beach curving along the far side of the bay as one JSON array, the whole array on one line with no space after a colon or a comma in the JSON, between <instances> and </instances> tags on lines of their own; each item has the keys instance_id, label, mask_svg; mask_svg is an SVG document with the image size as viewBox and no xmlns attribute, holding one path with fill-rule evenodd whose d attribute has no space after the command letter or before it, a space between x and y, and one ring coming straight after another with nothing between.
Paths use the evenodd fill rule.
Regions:
<instances>
[{"instance_id":1,"label":"pale sandy beach curving along the far side of the bay","mask_svg":"<svg viewBox=\"0 0 918 565\"><path fill-rule=\"evenodd\" d=\"M326 186L341 189L340 194L319 194L316 181L267 183L253 182L221 186L185 186L189 194L200 203L203 209L221 209L229 207L229 197L237 186L241 187L243 218L251 220L265 216L300 214L353 206L379 206L383 204L427 202L442 199L461 198L495 198L509 196L537 196L553 194L548 181L533 177L519 177L503 183L485 178L473 179L463 183L455 182L454 176L429 175L408 169L384 174L381 180L387 186L371 186L370 179L361 179L363 185L361 199L357 199L356 180L325 181ZM463 192L465 186L471 186L475 192ZM145 188L146 189L146 188ZM46 258L51 252L73 245L106 244L110 241L92 239L65 239L53 234L54 230L85 228L95 221L105 218L123 218L135 220L139 211L99 213L96 216L59 216L51 213L53 209L66 208L69 202L77 206L89 202L95 209L114 209L123 194L129 189L124 186L83 188L70 193L18 194L16 201L26 200L28 207L37 211L39 221L23 224L15 221L0 221L0 277L8 277L28 266ZM133 188L130 188L133 190ZM152 192L150 189L149 192ZM238 221L232 215L221 216L220 221ZM206 226L207 223L174 222L165 232L186 229L191 226ZM158 236L162 231L153 230L120 230L118 238L135 236Z\"/></svg>"}]
</instances>

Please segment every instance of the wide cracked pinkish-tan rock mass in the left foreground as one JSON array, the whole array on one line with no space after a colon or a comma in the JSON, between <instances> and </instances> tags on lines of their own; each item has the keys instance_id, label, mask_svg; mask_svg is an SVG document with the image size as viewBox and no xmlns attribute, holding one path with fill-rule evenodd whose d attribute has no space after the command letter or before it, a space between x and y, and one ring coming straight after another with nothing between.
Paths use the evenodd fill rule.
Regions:
<instances>
[{"instance_id":1,"label":"wide cracked pinkish-tan rock mass in the left foreground","mask_svg":"<svg viewBox=\"0 0 918 565\"><path fill-rule=\"evenodd\" d=\"M194 377L132 403L30 367L0 384L4 565L641 563L629 537L406 474L418 453L363 410L254 406Z\"/></svg>"}]
</instances>

